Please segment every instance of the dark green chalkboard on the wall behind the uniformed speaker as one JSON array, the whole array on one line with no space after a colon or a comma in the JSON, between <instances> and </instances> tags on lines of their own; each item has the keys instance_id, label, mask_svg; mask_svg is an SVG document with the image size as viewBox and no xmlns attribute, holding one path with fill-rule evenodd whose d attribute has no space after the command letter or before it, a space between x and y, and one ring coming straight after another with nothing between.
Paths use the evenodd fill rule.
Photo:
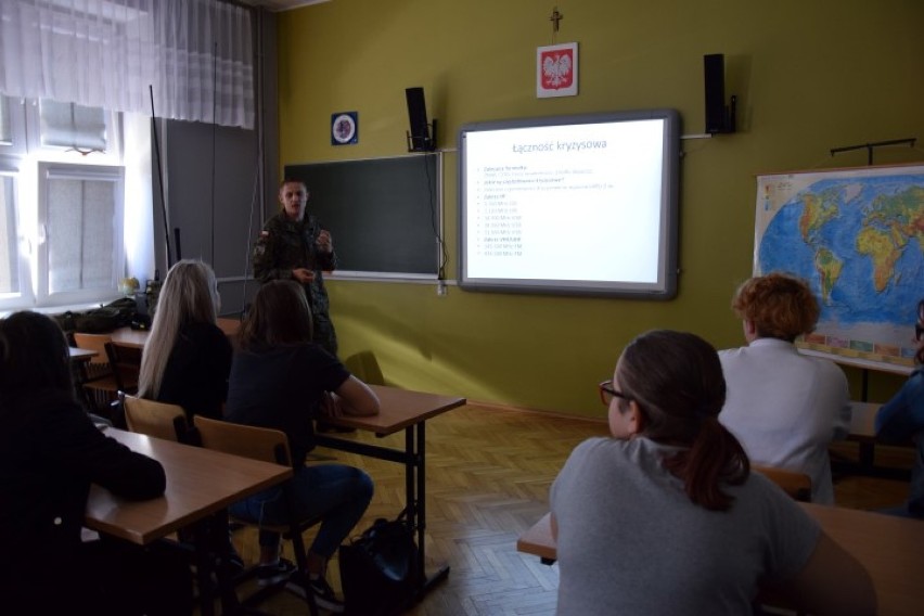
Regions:
<instances>
[{"instance_id":1,"label":"dark green chalkboard on the wall behind the uniformed speaker","mask_svg":"<svg viewBox=\"0 0 924 616\"><path fill-rule=\"evenodd\" d=\"M438 155L286 165L331 231L341 272L436 275Z\"/></svg>"}]
</instances>

